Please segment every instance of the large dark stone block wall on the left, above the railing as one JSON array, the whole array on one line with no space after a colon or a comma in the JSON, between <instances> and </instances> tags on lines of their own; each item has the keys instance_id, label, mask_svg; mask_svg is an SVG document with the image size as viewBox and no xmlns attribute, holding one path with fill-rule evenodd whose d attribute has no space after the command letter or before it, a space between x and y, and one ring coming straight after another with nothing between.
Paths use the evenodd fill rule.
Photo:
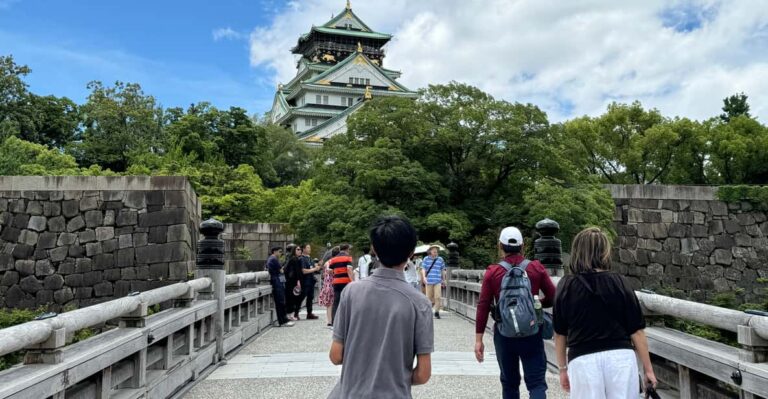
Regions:
<instances>
[{"instance_id":1,"label":"large dark stone block wall on the left, above the railing","mask_svg":"<svg viewBox=\"0 0 768 399\"><path fill-rule=\"evenodd\" d=\"M0 177L0 308L82 307L186 280L199 222L183 177Z\"/></svg>"}]
</instances>

